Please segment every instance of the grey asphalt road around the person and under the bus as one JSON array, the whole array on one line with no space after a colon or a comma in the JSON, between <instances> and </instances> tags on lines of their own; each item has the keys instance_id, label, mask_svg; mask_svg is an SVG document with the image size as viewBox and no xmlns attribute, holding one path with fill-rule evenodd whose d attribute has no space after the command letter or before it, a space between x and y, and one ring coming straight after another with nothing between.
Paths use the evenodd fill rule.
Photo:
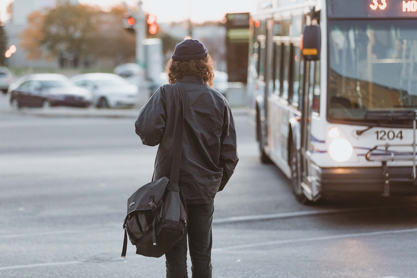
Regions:
<instances>
[{"instance_id":1,"label":"grey asphalt road around the person and under the bus","mask_svg":"<svg viewBox=\"0 0 417 278\"><path fill-rule=\"evenodd\" d=\"M215 199L213 277L417 277L416 198L301 205L235 119L240 161ZM151 180L156 154L133 124L0 114L1 278L165 277L164 258L131 245L120 257L127 198Z\"/></svg>"}]
</instances>

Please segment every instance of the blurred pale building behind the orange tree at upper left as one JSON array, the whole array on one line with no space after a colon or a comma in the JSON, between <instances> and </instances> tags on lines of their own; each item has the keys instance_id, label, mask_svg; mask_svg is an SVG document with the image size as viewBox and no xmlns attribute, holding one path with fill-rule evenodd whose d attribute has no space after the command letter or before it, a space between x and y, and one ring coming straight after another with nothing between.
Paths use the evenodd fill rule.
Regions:
<instances>
[{"instance_id":1,"label":"blurred pale building behind the orange tree at upper left","mask_svg":"<svg viewBox=\"0 0 417 278\"><path fill-rule=\"evenodd\" d=\"M8 36L8 45L16 45L17 51L8 58L8 66L14 68L20 67L47 67L58 68L58 59L53 61L46 60L26 60L26 53L19 47L19 34L28 25L28 15L37 10L53 8L60 1L65 0L15 0L13 2L13 15L5 24L5 30ZM69 0L70 4L78 4L78 0Z\"/></svg>"}]
</instances>

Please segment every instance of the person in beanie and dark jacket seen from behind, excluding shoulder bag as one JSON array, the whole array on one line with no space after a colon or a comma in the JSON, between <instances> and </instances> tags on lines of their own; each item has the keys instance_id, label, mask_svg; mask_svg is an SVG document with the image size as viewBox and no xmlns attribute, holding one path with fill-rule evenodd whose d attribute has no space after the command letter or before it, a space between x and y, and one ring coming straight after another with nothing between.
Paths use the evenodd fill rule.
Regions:
<instances>
[{"instance_id":1,"label":"person in beanie and dark jacket seen from behind, excluding shoulder bag","mask_svg":"<svg viewBox=\"0 0 417 278\"><path fill-rule=\"evenodd\" d=\"M187 203L187 232L165 254L166 277L188 278L187 236L193 278L211 278L211 223L214 196L224 189L238 163L236 130L226 98L211 88L214 60L198 40L176 45L166 65L169 83L139 112L136 134L159 144L153 179L169 178L180 90L185 90L183 150L178 187Z\"/></svg>"}]
</instances>

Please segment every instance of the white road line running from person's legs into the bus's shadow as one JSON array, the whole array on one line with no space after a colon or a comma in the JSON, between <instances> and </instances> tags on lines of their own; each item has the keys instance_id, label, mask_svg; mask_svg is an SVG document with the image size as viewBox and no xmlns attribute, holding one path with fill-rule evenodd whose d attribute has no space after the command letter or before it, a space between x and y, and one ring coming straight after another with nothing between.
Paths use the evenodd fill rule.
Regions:
<instances>
[{"instance_id":1,"label":"white road line running from person's legs into the bus's shadow","mask_svg":"<svg viewBox=\"0 0 417 278\"><path fill-rule=\"evenodd\" d=\"M278 219L278 218L291 218L291 217L297 217L297 216L345 213L345 212L376 210L376 209L382 209L382 208L399 208L399 207L402 208L405 206L396 205L396 206L378 206L378 207L362 207L362 208L334 208L334 209L324 209L324 210L303 210L303 211L293 211L293 212L274 213L274 214L232 216L232 217L227 217L227 218L213 219L213 223L221 224L221 223L271 220L271 219Z\"/></svg>"}]
</instances>

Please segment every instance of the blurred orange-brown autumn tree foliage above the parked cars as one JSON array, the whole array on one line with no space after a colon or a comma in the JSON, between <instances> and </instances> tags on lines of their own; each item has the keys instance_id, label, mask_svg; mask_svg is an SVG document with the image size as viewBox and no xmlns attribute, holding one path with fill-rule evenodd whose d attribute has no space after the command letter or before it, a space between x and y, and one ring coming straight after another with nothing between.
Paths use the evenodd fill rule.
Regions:
<instances>
[{"instance_id":1,"label":"blurred orange-brown autumn tree foliage above the parked cars","mask_svg":"<svg viewBox=\"0 0 417 278\"><path fill-rule=\"evenodd\" d=\"M111 58L117 65L135 55L135 37L123 27L124 13L122 7L103 12L69 3L46 13L34 12L20 34L20 46L28 53L27 59L58 58L69 53L76 61Z\"/></svg>"}]
</instances>

